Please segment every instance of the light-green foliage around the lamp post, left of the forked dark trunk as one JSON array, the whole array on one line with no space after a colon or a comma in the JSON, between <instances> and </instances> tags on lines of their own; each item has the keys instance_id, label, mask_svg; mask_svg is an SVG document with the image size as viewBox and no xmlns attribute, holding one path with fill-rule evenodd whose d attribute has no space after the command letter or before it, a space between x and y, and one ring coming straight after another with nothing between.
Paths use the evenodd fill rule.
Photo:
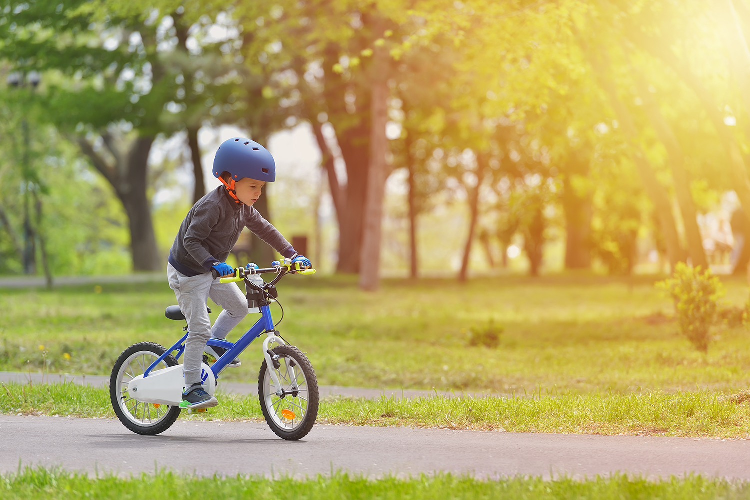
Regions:
<instances>
[{"instance_id":1,"label":"light-green foliage around the lamp post, left of the forked dark trunk","mask_svg":"<svg viewBox=\"0 0 750 500\"><path fill-rule=\"evenodd\" d=\"M31 112L29 112L31 111ZM0 274L23 272L25 210L36 234L37 273L42 272L38 237L43 235L53 275L121 274L130 271L127 217L112 188L94 175L81 160L77 147L54 127L37 121L37 110L2 103L0 114ZM28 164L23 172L26 147L20 131L21 117L30 129ZM29 180L31 175L33 180ZM27 196L24 190L29 186ZM37 218L37 200L43 217ZM104 270L107 271L104 271Z\"/></svg>"}]
</instances>

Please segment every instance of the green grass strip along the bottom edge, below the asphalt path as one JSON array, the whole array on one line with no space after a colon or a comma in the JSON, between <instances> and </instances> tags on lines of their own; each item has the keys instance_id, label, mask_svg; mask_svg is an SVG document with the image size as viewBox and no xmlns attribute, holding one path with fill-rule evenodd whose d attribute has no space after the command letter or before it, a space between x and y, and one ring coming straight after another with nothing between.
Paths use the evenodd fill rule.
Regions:
<instances>
[{"instance_id":1,"label":"green grass strip along the bottom edge, below the asphalt path","mask_svg":"<svg viewBox=\"0 0 750 500\"><path fill-rule=\"evenodd\" d=\"M122 478L89 477L57 469L26 468L0 475L5 500L30 499L750 499L750 484L690 475L647 481L628 475L577 481L515 476L487 479L464 475L393 476L368 479L336 472L312 478L199 477L156 472Z\"/></svg>"}]
</instances>

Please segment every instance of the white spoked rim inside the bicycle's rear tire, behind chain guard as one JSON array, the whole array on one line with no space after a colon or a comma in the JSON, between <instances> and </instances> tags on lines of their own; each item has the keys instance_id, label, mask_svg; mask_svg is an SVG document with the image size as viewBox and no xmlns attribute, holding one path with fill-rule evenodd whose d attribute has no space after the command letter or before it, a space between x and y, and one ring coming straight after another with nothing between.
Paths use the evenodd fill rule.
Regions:
<instances>
[{"instance_id":1,"label":"white spoked rim inside the bicycle's rear tire, behind chain guard","mask_svg":"<svg viewBox=\"0 0 750 500\"><path fill-rule=\"evenodd\" d=\"M151 427L158 424L169 413L172 407L164 404L143 403L130 397L128 385L136 376L145 373L145 370L151 366L151 363L157 360L159 356L152 351L138 351L130 355L120 367L117 374L117 383L120 386L119 404L127 420L141 427ZM166 361L161 361L160 365L154 367L159 370L160 367L166 368Z\"/></svg>"}]
</instances>

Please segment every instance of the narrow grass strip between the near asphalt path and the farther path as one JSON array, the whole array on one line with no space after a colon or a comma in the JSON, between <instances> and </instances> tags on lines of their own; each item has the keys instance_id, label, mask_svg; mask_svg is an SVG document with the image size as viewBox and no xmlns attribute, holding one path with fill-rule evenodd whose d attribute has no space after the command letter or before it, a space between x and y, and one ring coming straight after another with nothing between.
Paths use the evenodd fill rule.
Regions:
<instances>
[{"instance_id":1,"label":"narrow grass strip between the near asphalt path and the farther path","mask_svg":"<svg viewBox=\"0 0 750 500\"><path fill-rule=\"evenodd\" d=\"M0 412L114 417L103 388L64 384L0 385ZM326 398L323 424L443 427L539 433L750 437L750 392L559 394L529 397ZM254 396L224 394L206 415L182 418L262 420Z\"/></svg>"}]
</instances>

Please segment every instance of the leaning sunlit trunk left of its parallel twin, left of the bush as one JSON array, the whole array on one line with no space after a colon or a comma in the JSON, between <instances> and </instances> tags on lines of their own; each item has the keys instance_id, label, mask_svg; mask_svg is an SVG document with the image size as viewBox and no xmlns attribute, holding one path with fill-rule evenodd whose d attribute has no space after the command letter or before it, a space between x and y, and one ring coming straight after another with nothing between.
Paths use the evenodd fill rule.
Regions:
<instances>
[{"instance_id":1,"label":"leaning sunlit trunk left of its parallel twin, left of the bush","mask_svg":"<svg viewBox=\"0 0 750 500\"><path fill-rule=\"evenodd\" d=\"M640 145L637 143L638 130L635 126L635 121L630 110L617 97L615 83L608 76L606 65L598 61L595 57L589 57L589 61L597 73L602 88L604 88L604 91L609 97L610 105L614 109L619 123L622 125L622 133L630 143L631 150L633 151L633 161L640 174L640 178L643 181L643 187L646 189L646 193L648 193L649 198L654 204L656 214L658 214L661 229L664 232L664 241L667 244L669 262L672 269L674 269L677 262L685 261L685 252L682 250L682 245L679 243L679 234L677 233L677 226L674 221L674 215L672 214L672 204L669 199L669 193L667 193L666 188L659 183L653 167L646 158L646 154L643 153L643 149L641 149Z\"/></svg>"}]
</instances>

